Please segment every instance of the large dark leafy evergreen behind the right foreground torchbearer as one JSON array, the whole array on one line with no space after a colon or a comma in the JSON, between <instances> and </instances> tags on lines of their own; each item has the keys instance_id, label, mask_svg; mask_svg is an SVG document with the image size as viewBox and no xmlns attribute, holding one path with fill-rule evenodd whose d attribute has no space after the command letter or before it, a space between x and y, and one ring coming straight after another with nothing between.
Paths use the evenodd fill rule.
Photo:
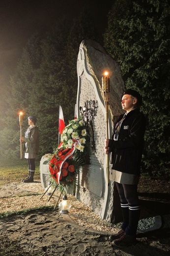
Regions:
<instances>
[{"instance_id":1,"label":"large dark leafy evergreen behind the right foreground torchbearer","mask_svg":"<svg viewBox=\"0 0 170 256\"><path fill-rule=\"evenodd\" d=\"M143 97L147 117L142 169L169 176L170 5L168 0L116 0L105 47L120 64L127 88Z\"/></svg>"}]
</instances>

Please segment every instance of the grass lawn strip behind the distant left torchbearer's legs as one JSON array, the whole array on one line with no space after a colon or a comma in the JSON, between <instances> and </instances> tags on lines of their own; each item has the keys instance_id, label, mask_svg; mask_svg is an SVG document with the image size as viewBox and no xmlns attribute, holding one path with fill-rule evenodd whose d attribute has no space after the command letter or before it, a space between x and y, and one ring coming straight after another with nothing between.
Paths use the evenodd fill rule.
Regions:
<instances>
[{"instance_id":1,"label":"grass lawn strip behind the distant left torchbearer's legs","mask_svg":"<svg viewBox=\"0 0 170 256\"><path fill-rule=\"evenodd\" d=\"M40 161L35 161L34 179L40 179ZM0 187L11 182L19 182L28 176L28 163L26 159L0 159Z\"/></svg>"}]
</instances>

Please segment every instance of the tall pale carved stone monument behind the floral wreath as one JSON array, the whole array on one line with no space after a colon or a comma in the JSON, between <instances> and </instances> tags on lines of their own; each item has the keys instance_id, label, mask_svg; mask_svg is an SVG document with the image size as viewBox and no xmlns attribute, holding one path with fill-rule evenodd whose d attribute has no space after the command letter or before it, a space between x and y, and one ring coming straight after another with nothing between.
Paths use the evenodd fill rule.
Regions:
<instances>
[{"instance_id":1,"label":"tall pale carved stone monument behind the floral wreath","mask_svg":"<svg viewBox=\"0 0 170 256\"><path fill-rule=\"evenodd\" d=\"M91 164L85 166L78 177L80 189L76 191L76 197L96 212L102 220L112 222L115 217L113 216L114 183L110 180L108 185L104 153L106 121L102 76L105 70L109 72L110 77L108 126L109 138L111 138L114 117L123 113L120 99L125 85L120 67L99 43L88 39L82 41L77 60L76 106L77 113L80 115L81 112L84 118L91 123L93 154L90 156ZM111 173L111 164L109 169Z\"/></svg>"}]
</instances>

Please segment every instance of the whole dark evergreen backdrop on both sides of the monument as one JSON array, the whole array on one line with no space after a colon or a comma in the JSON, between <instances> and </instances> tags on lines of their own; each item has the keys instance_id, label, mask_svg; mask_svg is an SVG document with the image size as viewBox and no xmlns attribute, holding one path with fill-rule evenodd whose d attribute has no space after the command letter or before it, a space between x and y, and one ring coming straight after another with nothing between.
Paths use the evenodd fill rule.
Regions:
<instances>
[{"instance_id":1,"label":"whole dark evergreen backdrop on both sides of the monument","mask_svg":"<svg viewBox=\"0 0 170 256\"><path fill-rule=\"evenodd\" d=\"M58 143L59 105L66 125L74 119L79 45L90 38L104 45L120 65L126 87L143 97L147 128L142 173L169 177L169 1L107 2L106 30L99 31L90 8L82 8L75 19L56 18L49 31L30 36L15 71L4 70L0 87L0 158L20 158L20 110L25 113L23 131L29 115L38 119L39 158L53 153Z\"/></svg>"}]
</instances>

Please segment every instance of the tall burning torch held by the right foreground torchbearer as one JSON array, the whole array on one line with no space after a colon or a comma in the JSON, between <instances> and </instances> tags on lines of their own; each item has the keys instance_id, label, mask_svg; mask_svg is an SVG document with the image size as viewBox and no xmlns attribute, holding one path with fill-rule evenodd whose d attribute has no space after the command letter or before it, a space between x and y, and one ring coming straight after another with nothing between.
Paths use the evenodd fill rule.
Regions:
<instances>
[{"instance_id":1,"label":"tall burning torch held by the right foreground torchbearer","mask_svg":"<svg viewBox=\"0 0 170 256\"><path fill-rule=\"evenodd\" d=\"M108 139L108 109L109 109L109 96L110 96L110 78L108 76L108 72L104 73L102 77L102 89L105 101L105 110L106 110L106 139ZM106 170L107 170L107 179L109 186L109 155L106 155Z\"/></svg>"}]
</instances>

